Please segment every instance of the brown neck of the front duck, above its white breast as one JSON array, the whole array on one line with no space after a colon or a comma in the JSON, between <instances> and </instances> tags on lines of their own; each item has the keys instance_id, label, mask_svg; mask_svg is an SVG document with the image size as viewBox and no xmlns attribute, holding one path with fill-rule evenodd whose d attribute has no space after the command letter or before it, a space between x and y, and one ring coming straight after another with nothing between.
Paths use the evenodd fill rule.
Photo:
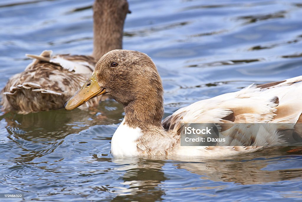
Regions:
<instances>
[{"instance_id":1,"label":"brown neck of the front duck, above its white breast","mask_svg":"<svg viewBox=\"0 0 302 202\"><path fill-rule=\"evenodd\" d=\"M124 106L125 123L132 127L139 127L142 130L148 128L161 128L164 113L163 97L157 95L153 99L138 99Z\"/></svg>"}]
</instances>

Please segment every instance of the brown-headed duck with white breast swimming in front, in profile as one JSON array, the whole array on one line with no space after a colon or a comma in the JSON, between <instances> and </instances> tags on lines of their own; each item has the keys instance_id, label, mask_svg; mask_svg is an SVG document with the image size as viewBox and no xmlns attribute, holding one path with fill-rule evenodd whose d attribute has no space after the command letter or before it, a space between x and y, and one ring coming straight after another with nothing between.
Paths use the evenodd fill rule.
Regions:
<instances>
[{"instance_id":1,"label":"brown-headed duck with white breast swimming in front, in profile","mask_svg":"<svg viewBox=\"0 0 302 202\"><path fill-rule=\"evenodd\" d=\"M298 76L268 84L251 84L237 92L192 103L162 121L163 87L156 65L142 52L119 49L101 57L92 76L64 108L75 109L104 94L122 104L125 115L112 136L113 156L216 158L282 146L286 144L282 132L290 129L300 137L300 128L294 126L302 121L301 81L302 76ZM234 127L220 128L227 142L185 146L181 144L181 132L184 124L190 123L234 124ZM266 125L246 134L244 129L257 123ZM246 128L240 128L243 126Z\"/></svg>"}]
</instances>

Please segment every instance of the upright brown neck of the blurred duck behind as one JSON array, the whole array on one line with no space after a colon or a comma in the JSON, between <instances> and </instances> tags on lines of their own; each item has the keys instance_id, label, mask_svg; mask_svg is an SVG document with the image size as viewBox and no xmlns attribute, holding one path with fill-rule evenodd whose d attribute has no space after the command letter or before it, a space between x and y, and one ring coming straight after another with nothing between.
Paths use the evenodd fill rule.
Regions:
<instances>
[{"instance_id":1,"label":"upright brown neck of the blurred duck behind","mask_svg":"<svg viewBox=\"0 0 302 202\"><path fill-rule=\"evenodd\" d=\"M99 60L105 53L122 49L126 0L95 0L93 5L93 53Z\"/></svg>"}]
</instances>

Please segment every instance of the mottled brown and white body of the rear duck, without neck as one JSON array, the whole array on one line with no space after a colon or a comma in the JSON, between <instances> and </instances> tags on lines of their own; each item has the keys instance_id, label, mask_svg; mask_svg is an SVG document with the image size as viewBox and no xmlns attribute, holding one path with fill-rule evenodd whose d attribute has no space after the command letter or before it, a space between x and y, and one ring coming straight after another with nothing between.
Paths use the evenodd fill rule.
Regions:
<instances>
[{"instance_id":1,"label":"mottled brown and white body of the rear duck, without neck","mask_svg":"<svg viewBox=\"0 0 302 202\"><path fill-rule=\"evenodd\" d=\"M95 59L84 55L55 55L43 51L28 55L34 61L27 68L11 77L2 90L5 111L17 110L20 114L60 109L90 77ZM99 98L88 106L95 106Z\"/></svg>"}]
</instances>

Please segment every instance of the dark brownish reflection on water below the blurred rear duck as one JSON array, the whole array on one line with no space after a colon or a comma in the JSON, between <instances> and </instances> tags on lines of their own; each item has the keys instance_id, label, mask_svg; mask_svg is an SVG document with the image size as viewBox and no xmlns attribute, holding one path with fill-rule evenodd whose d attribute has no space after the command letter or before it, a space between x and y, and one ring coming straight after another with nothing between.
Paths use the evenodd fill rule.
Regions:
<instances>
[{"instance_id":1,"label":"dark brownish reflection on water below the blurred rear duck","mask_svg":"<svg viewBox=\"0 0 302 202\"><path fill-rule=\"evenodd\" d=\"M117 124L123 118L122 106L110 100L100 104L98 109L90 111L56 110L27 115L7 113L2 116L2 123L7 129L8 139L15 144L19 153L15 162L31 162L53 153L64 143L69 134L84 133L90 126L98 124ZM98 134L98 131L95 131ZM103 129L103 132L107 132ZM108 138L109 140L109 138ZM79 141L79 144L90 142Z\"/></svg>"}]
</instances>

